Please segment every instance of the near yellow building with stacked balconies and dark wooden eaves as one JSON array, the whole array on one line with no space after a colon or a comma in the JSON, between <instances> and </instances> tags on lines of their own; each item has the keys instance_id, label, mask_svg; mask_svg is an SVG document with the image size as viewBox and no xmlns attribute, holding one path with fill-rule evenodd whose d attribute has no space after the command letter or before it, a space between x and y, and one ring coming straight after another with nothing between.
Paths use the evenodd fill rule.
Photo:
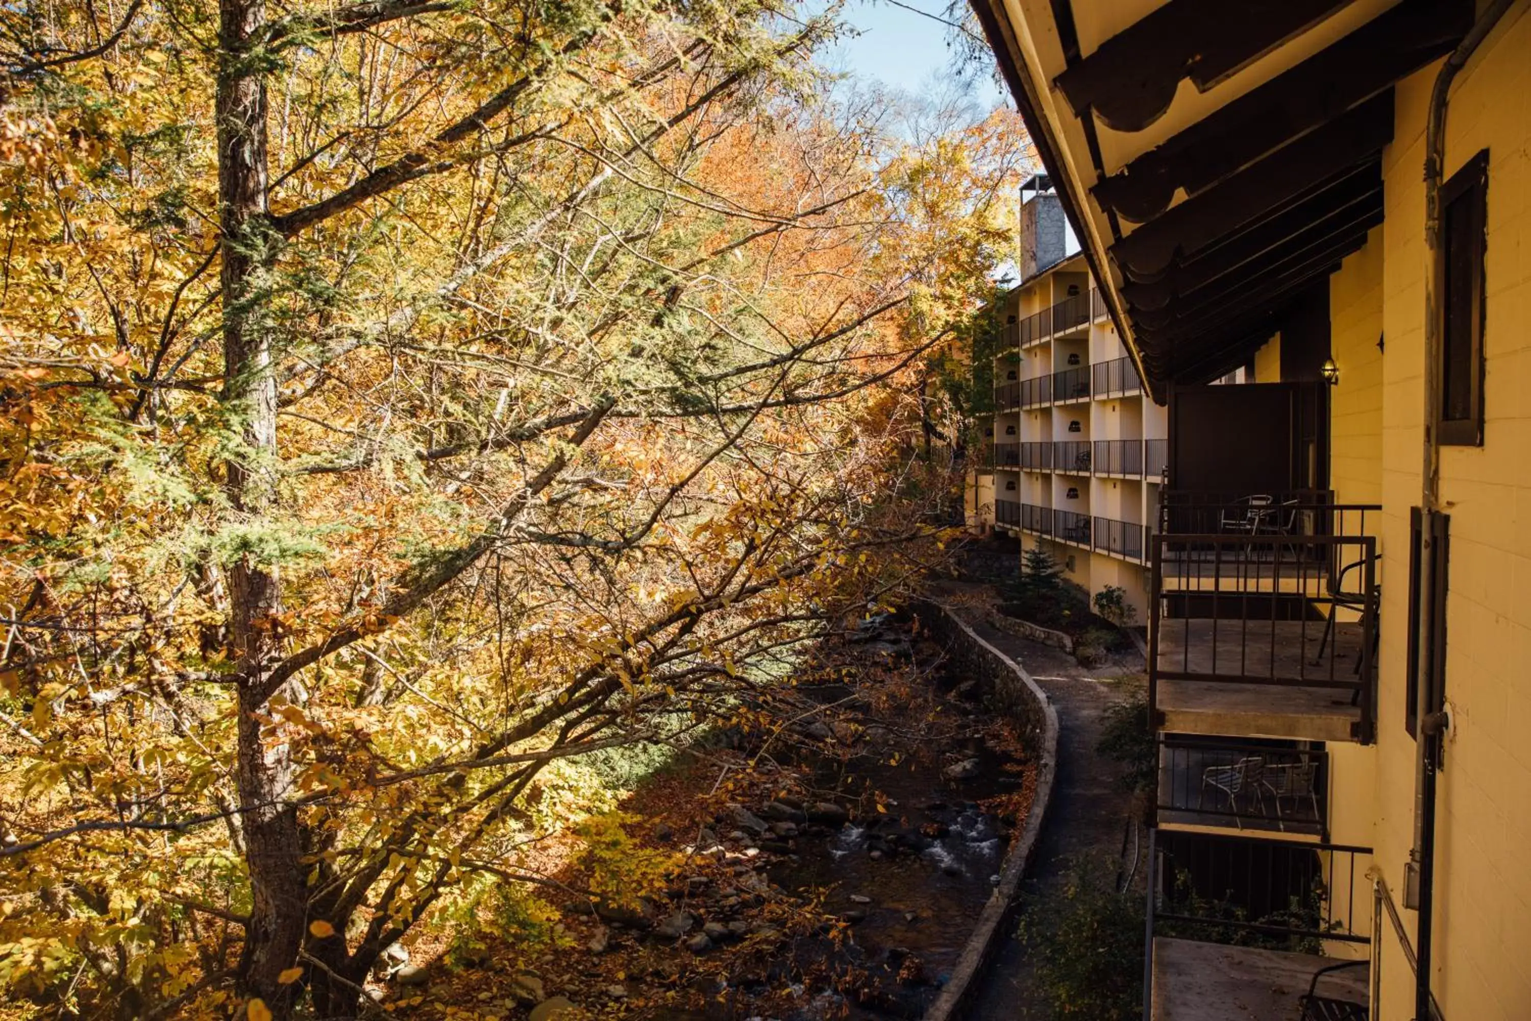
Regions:
<instances>
[{"instance_id":1,"label":"near yellow building with stacked balconies and dark wooden eaves","mask_svg":"<svg viewBox=\"0 0 1531 1021\"><path fill-rule=\"evenodd\" d=\"M1168 416L1145 1016L1531 1018L1531 2L974 6Z\"/></svg>"}]
</instances>

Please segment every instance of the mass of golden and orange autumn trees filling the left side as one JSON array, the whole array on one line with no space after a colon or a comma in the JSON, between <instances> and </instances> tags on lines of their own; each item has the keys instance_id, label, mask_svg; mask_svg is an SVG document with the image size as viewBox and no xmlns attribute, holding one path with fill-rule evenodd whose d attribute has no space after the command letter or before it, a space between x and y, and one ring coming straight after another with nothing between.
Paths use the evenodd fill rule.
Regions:
<instances>
[{"instance_id":1,"label":"mass of golden and orange autumn trees filling the left side","mask_svg":"<svg viewBox=\"0 0 1531 1021\"><path fill-rule=\"evenodd\" d=\"M1024 148L825 101L836 31L0 12L0 984L351 1015L582 756L909 589Z\"/></svg>"}]
</instances>

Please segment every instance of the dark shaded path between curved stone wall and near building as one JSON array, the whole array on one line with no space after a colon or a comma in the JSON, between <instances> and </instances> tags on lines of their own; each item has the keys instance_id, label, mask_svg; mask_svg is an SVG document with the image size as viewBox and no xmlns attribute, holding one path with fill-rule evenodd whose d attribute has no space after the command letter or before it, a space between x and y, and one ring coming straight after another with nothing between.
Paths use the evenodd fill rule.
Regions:
<instances>
[{"instance_id":1,"label":"dark shaded path between curved stone wall and near building","mask_svg":"<svg viewBox=\"0 0 1531 1021\"><path fill-rule=\"evenodd\" d=\"M969 621L986 641L1036 678L1058 709L1058 778L1047 824L1030 877L1021 888L1023 911L1046 911L1081 854L1118 856L1127 833L1128 794L1118 784L1121 770L1096 755L1101 715L1125 695L1122 683L1092 680L1073 657L1050 646L1003 634ZM1032 969L1014 931L978 978L966 1018L971 1021L1046 1021L1046 1004L1032 989Z\"/></svg>"}]
</instances>

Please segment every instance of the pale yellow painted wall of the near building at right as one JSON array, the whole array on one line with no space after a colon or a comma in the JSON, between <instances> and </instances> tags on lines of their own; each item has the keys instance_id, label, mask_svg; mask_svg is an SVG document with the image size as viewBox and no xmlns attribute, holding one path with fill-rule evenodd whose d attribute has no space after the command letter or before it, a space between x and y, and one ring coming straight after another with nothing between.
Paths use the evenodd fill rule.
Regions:
<instances>
[{"instance_id":1,"label":"pale yellow painted wall of the near building at right","mask_svg":"<svg viewBox=\"0 0 1531 1021\"><path fill-rule=\"evenodd\" d=\"M1433 986L1447 1018L1531 1018L1531 5L1459 75L1445 173L1490 150L1485 444L1447 447L1451 514L1447 698ZM1409 508L1424 415L1424 124L1435 67L1399 83L1384 153L1386 220L1330 282L1341 381L1332 419L1341 499L1384 504L1378 742L1335 749L1334 837L1372 842L1402 895L1415 742L1404 730ZM1379 329L1373 329L1378 321ZM1375 349L1376 334L1386 351ZM1375 453L1379 456L1375 456ZM1525 514L1525 519L1522 519ZM1370 834L1367 834L1370 831ZM1404 911L1412 928L1415 915ZM1382 1021L1413 1016L1412 975L1384 925Z\"/></svg>"}]
</instances>

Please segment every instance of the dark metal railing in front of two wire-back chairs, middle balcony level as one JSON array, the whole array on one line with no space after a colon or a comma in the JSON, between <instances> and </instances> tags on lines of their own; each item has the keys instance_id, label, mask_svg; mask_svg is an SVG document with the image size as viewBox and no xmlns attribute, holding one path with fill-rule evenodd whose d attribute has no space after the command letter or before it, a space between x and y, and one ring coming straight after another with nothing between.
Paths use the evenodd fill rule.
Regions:
<instances>
[{"instance_id":1,"label":"dark metal railing in front of two wire-back chairs, middle balcony level","mask_svg":"<svg viewBox=\"0 0 1531 1021\"><path fill-rule=\"evenodd\" d=\"M1295 741L1162 735L1159 825L1329 833L1329 753Z\"/></svg>"}]
</instances>

